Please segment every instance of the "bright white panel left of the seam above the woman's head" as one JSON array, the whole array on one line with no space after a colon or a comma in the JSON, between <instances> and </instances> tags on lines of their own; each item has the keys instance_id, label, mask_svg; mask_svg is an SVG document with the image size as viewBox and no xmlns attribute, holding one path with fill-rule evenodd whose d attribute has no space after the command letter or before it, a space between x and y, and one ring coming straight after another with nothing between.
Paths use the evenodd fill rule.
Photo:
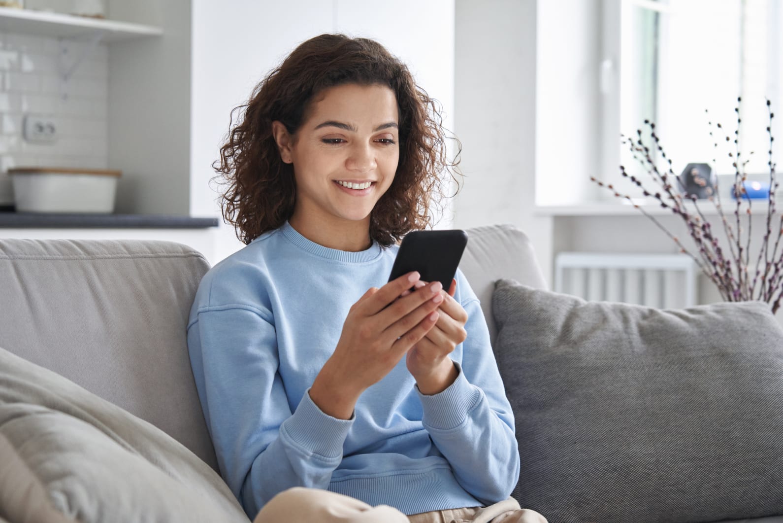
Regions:
<instances>
[{"instance_id":1,"label":"bright white panel left of the seam above the woman's head","mask_svg":"<svg viewBox=\"0 0 783 523\"><path fill-rule=\"evenodd\" d=\"M331 30L330 2L193 1L190 215L221 216L210 187L212 162L229 130L234 107L298 42ZM215 235L216 263L244 247L232 226Z\"/></svg>"}]
</instances>

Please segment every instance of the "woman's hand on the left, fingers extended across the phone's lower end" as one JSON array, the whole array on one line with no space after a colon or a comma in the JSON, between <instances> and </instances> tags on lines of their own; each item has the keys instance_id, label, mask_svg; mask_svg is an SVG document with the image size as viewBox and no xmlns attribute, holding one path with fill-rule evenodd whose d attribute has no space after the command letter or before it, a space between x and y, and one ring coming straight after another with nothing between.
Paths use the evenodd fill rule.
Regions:
<instances>
[{"instance_id":1,"label":"woman's hand on the left, fingers extended across the phone's lower end","mask_svg":"<svg viewBox=\"0 0 783 523\"><path fill-rule=\"evenodd\" d=\"M444 298L440 282L417 284L417 272L405 274L353 304L334 354L323 365L310 398L330 416L350 419L359 395L394 369L410 347L435 327Z\"/></svg>"}]
</instances>

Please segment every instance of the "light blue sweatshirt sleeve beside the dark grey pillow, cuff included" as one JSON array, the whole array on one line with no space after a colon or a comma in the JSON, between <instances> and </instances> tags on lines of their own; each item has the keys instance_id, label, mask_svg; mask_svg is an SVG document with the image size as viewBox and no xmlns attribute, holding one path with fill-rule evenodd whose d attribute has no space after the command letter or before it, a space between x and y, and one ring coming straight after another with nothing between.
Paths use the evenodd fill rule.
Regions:
<instances>
[{"instance_id":1,"label":"light blue sweatshirt sleeve beside the dark grey pillow, cuff included","mask_svg":"<svg viewBox=\"0 0 783 523\"><path fill-rule=\"evenodd\" d=\"M419 393L423 423L460 485L483 503L497 503L511 495L519 479L514 413L489 343L481 304L467 280L457 281L468 315L462 361L456 363L460 372L441 393Z\"/></svg>"}]
</instances>

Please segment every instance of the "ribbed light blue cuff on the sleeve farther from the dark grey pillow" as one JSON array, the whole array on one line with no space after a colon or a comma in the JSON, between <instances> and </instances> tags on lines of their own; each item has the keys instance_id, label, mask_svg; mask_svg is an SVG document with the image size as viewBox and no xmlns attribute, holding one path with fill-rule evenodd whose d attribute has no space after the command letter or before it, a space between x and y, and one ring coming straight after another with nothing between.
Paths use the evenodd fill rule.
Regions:
<instances>
[{"instance_id":1,"label":"ribbed light blue cuff on the sleeve farther from the dark grey pillow","mask_svg":"<svg viewBox=\"0 0 783 523\"><path fill-rule=\"evenodd\" d=\"M324 413L305 391L294 415L280 426L280 434L303 452L325 458L342 457L343 443L354 418L337 419Z\"/></svg>"}]
</instances>

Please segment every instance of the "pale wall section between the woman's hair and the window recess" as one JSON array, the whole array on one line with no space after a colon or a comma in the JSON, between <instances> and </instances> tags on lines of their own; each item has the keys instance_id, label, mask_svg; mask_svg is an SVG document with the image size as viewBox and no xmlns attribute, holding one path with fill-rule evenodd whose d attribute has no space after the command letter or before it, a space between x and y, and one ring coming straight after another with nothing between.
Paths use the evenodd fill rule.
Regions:
<instances>
[{"instance_id":1,"label":"pale wall section between the woman's hair and the window recess","mask_svg":"<svg viewBox=\"0 0 783 523\"><path fill-rule=\"evenodd\" d=\"M511 223L550 280L552 220L536 216L536 1L456 0L455 227ZM498 253L503 256L503 253Z\"/></svg>"}]
</instances>

